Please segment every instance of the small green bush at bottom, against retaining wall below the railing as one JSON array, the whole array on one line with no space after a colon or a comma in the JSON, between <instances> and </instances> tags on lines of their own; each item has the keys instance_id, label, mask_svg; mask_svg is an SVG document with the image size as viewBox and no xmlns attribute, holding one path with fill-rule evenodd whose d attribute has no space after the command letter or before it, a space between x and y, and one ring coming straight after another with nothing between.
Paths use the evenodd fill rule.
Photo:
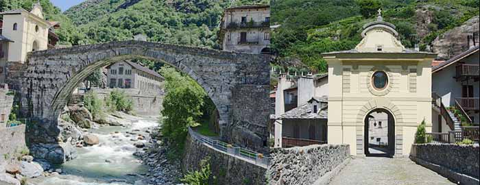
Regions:
<instances>
[{"instance_id":1,"label":"small green bush at bottom, against retaining wall below the railing","mask_svg":"<svg viewBox=\"0 0 480 185\"><path fill-rule=\"evenodd\" d=\"M182 182L189 185L208 185L211 175L210 157L206 157L200 160L200 170L187 172L182 178Z\"/></svg>"}]
</instances>

